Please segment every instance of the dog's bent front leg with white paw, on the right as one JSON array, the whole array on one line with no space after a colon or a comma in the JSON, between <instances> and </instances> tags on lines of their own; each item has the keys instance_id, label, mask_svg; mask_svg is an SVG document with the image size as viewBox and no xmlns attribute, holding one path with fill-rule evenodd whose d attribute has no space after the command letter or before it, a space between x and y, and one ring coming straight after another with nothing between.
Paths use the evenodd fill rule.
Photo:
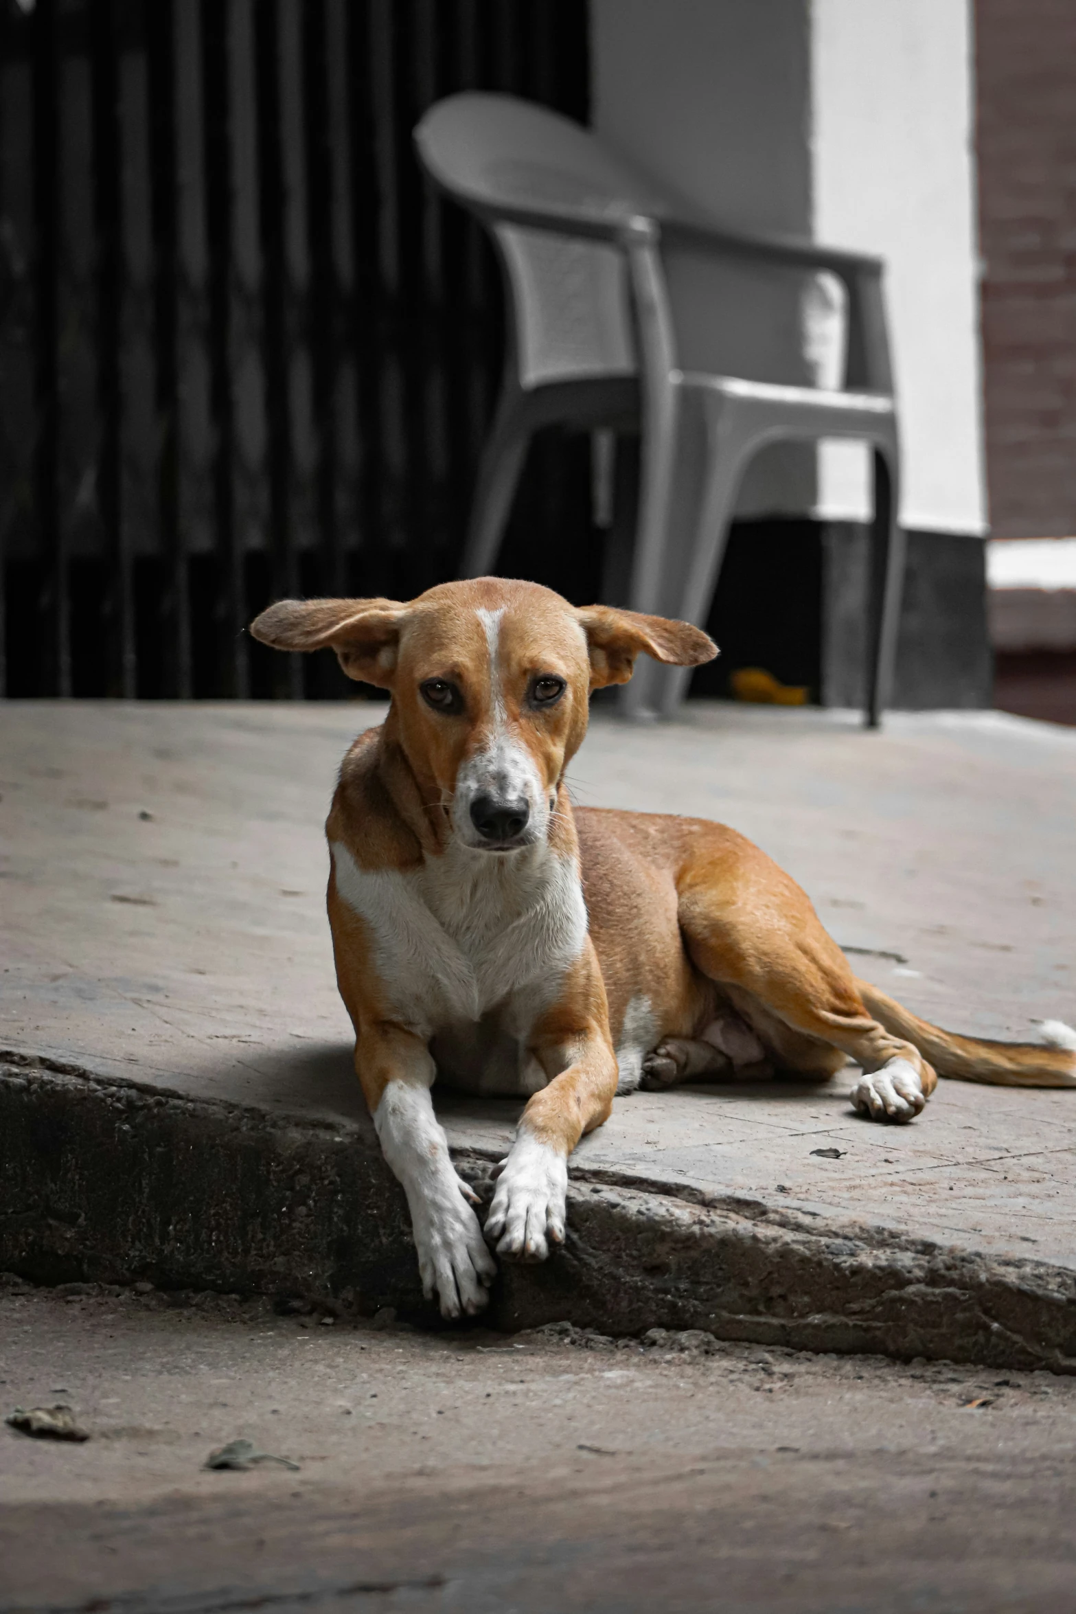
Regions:
<instances>
[{"instance_id":1,"label":"dog's bent front leg with white paw, on the right","mask_svg":"<svg viewBox=\"0 0 1076 1614\"><path fill-rule=\"evenodd\" d=\"M486 1236L497 1240L500 1256L545 1261L548 1241L565 1241L568 1156L613 1107L618 1070L603 1002L602 1014L574 1035L550 1028L531 1049L552 1080L519 1119Z\"/></svg>"}]
</instances>

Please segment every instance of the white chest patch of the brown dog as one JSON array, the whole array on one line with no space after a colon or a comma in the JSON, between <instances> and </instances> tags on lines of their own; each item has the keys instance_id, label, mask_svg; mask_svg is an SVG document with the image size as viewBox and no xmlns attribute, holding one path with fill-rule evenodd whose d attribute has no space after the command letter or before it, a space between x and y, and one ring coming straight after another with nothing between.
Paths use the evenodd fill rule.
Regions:
<instances>
[{"instance_id":1,"label":"white chest patch of the brown dog","mask_svg":"<svg viewBox=\"0 0 1076 1614\"><path fill-rule=\"evenodd\" d=\"M548 1004L587 933L579 872L548 847L450 849L418 870L360 868L331 844L336 884L369 926L381 996L421 1036L500 1006L513 1035Z\"/></svg>"}]
</instances>

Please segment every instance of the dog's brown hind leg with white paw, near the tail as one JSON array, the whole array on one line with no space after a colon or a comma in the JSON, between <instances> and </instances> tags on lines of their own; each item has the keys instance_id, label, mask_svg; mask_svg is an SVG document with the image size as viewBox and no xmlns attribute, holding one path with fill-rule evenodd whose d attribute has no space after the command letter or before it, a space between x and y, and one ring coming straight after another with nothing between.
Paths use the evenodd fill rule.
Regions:
<instances>
[{"instance_id":1,"label":"dog's brown hind leg with white paw, near the tail","mask_svg":"<svg viewBox=\"0 0 1076 1614\"><path fill-rule=\"evenodd\" d=\"M918 1115L937 1085L932 1067L871 1017L807 894L739 836L726 833L713 852L700 846L678 883L679 923L695 967L747 1014L786 1068L826 1075L840 1064L828 1051L839 1049L863 1070L852 1094L861 1114L897 1122Z\"/></svg>"}]
</instances>

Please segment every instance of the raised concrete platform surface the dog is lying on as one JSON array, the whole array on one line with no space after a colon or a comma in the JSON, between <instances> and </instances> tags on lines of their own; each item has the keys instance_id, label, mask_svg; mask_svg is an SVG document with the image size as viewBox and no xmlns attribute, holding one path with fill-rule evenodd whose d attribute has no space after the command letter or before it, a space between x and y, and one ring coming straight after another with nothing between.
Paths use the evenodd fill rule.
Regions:
<instances>
[{"instance_id":1,"label":"raised concrete platform surface the dog is lying on","mask_svg":"<svg viewBox=\"0 0 1076 1614\"><path fill-rule=\"evenodd\" d=\"M321 825L348 739L381 710L0 709L0 1047L368 1135ZM870 734L847 713L699 704L666 726L597 718L571 786L742 830L860 973L942 1025L1028 1038L1036 1018L1076 1020L1066 730L899 713ZM850 1085L634 1094L573 1175L1076 1272L1076 1093L942 1083L886 1128L853 1115ZM453 1148L489 1160L516 1110L442 1114Z\"/></svg>"}]
</instances>

